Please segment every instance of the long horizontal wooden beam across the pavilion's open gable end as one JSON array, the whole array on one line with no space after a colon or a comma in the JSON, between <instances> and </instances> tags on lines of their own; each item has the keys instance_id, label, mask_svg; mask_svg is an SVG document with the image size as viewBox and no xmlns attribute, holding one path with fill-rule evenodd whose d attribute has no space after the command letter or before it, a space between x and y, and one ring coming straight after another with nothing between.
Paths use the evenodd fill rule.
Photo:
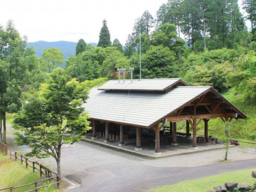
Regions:
<instances>
[{"instance_id":1,"label":"long horizontal wooden beam across the pavilion's open gable end","mask_svg":"<svg viewBox=\"0 0 256 192\"><path fill-rule=\"evenodd\" d=\"M182 115L178 117L167 117L167 120L169 122L171 121L180 121L180 120L186 120L186 119L208 119L208 118L215 118L215 117L233 117L235 118L234 113L216 113L216 114L196 114L196 115Z\"/></svg>"}]
</instances>

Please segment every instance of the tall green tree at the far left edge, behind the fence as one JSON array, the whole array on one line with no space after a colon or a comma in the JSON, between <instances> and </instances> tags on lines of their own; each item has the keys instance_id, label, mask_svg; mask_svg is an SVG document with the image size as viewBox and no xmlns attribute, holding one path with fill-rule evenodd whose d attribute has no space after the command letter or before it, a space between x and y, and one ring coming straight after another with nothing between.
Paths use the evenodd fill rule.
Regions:
<instances>
[{"instance_id":1,"label":"tall green tree at the far left edge, behind the fence","mask_svg":"<svg viewBox=\"0 0 256 192\"><path fill-rule=\"evenodd\" d=\"M34 52L25 48L26 39L21 38L12 21L6 28L0 27L0 117L3 120L4 143L6 113L17 112L21 107L21 92L31 82L28 73L36 68Z\"/></svg>"}]
</instances>

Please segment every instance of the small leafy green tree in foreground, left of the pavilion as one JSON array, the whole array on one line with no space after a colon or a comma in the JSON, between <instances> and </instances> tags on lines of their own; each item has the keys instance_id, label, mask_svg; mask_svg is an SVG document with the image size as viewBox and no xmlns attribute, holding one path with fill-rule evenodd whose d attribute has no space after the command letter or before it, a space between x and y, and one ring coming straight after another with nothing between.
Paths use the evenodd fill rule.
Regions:
<instances>
[{"instance_id":1,"label":"small leafy green tree in foreground, left of the pavilion","mask_svg":"<svg viewBox=\"0 0 256 192\"><path fill-rule=\"evenodd\" d=\"M25 130L26 137L16 133L17 144L28 144L27 156L53 156L60 176L60 154L63 144L73 144L90 129L89 115L82 103L87 99L88 87L72 79L62 68L50 73L47 84L41 85L28 104L14 119L16 130Z\"/></svg>"}]
</instances>

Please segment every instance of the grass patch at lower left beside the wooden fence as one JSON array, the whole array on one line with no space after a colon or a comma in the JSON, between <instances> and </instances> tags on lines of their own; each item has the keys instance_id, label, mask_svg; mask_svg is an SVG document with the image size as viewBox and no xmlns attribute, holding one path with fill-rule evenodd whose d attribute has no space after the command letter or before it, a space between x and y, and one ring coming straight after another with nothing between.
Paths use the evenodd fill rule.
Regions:
<instances>
[{"instance_id":1,"label":"grass patch at lower left beside the wooden fence","mask_svg":"<svg viewBox=\"0 0 256 192\"><path fill-rule=\"evenodd\" d=\"M24 164L21 165L0 152L0 178L0 188L6 188L33 183L40 179L40 176L38 172L33 173L32 169L26 169ZM28 191L29 189L32 188L28 186L15 191Z\"/></svg>"}]
</instances>

